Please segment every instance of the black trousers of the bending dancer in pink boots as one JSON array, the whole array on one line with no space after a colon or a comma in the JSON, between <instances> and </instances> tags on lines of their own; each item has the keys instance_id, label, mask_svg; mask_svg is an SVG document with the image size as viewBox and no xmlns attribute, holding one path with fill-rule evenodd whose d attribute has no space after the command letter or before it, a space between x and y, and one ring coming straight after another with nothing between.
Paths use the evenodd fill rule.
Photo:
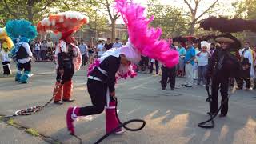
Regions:
<instances>
[{"instance_id":1,"label":"black trousers of the bending dancer in pink boots","mask_svg":"<svg viewBox=\"0 0 256 144\"><path fill-rule=\"evenodd\" d=\"M101 114L106 106L106 83L88 79L87 89L93 105L80 108L79 114Z\"/></svg>"}]
</instances>

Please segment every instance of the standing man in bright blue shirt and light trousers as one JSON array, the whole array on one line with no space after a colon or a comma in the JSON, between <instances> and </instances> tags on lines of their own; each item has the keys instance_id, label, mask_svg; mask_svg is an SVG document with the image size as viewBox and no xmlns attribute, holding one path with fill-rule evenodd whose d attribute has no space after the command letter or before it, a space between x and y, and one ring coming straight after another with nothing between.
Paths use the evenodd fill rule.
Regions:
<instances>
[{"instance_id":1,"label":"standing man in bright blue shirt and light trousers","mask_svg":"<svg viewBox=\"0 0 256 144\"><path fill-rule=\"evenodd\" d=\"M193 85L193 66L195 59L195 50L193 47L193 42L187 42L187 51L185 56L185 70L186 70L186 87L192 87Z\"/></svg>"}]
</instances>

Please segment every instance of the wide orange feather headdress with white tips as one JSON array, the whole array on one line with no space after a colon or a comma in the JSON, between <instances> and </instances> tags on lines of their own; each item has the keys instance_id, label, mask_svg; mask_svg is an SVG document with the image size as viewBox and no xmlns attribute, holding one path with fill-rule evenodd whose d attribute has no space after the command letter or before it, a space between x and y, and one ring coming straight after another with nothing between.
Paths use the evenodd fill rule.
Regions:
<instances>
[{"instance_id":1,"label":"wide orange feather headdress with white tips","mask_svg":"<svg viewBox=\"0 0 256 144\"><path fill-rule=\"evenodd\" d=\"M44 18L38 22L38 32L46 33L52 31L55 34L61 33L62 39L66 40L71 34L89 22L89 18L77 11L66 11L59 14L50 14L49 18Z\"/></svg>"}]
</instances>

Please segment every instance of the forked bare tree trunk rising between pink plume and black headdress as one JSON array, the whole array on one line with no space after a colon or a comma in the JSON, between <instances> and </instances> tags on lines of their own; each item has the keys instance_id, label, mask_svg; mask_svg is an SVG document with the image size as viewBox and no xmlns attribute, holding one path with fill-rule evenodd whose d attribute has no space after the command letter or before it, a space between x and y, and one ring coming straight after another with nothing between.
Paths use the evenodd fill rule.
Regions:
<instances>
[{"instance_id":1,"label":"forked bare tree trunk rising between pink plume and black headdress","mask_svg":"<svg viewBox=\"0 0 256 144\"><path fill-rule=\"evenodd\" d=\"M202 16L204 14L206 14L209 10L213 9L214 6L216 5L216 3L218 2L218 0L214 0L214 2L212 2L210 4L210 6L208 8L206 8L206 10L204 10L202 12L202 14L200 14L198 16L197 16L197 14L198 14L198 6L201 3L203 3L203 0L193 0L194 1L193 3L192 3L192 0L190 0L190 2L188 2L188 0L183 0L183 1L186 3L186 6L188 6L189 10L190 10L190 34L194 35L195 25L197 24L198 20L200 18L202 18Z\"/></svg>"}]
</instances>

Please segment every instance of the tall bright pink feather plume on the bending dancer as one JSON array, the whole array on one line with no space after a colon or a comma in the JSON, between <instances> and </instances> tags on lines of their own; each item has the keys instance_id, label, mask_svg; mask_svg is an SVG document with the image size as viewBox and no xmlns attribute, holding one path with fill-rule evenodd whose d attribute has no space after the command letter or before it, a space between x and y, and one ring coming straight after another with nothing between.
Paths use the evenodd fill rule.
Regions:
<instances>
[{"instance_id":1,"label":"tall bright pink feather plume on the bending dancer","mask_svg":"<svg viewBox=\"0 0 256 144\"><path fill-rule=\"evenodd\" d=\"M170 50L170 43L159 40L162 34L160 28L150 28L154 17L144 16L145 8L127 0L115 0L115 8L126 23L129 39L135 49L142 55L158 59L165 66L172 67L178 63L178 52Z\"/></svg>"}]
</instances>

